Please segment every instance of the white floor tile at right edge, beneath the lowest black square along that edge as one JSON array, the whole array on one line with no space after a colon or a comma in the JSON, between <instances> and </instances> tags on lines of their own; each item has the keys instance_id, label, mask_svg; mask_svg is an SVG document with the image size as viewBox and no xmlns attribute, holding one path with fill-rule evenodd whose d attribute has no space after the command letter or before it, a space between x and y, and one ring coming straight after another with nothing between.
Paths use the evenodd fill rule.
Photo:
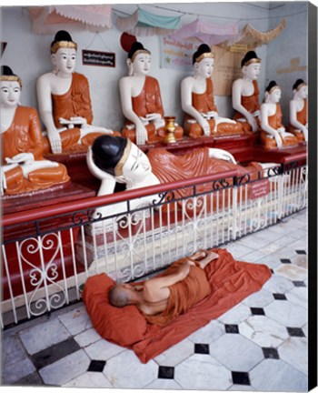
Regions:
<instances>
[{"instance_id":1,"label":"white floor tile at right edge, beneath the lowest black square along that edge","mask_svg":"<svg viewBox=\"0 0 318 393\"><path fill-rule=\"evenodd\" d=\"M281 359L297 368L303 374L308 375L308 339L288 338L281 347L278 348Z\"/></svg>"}]
</instances>

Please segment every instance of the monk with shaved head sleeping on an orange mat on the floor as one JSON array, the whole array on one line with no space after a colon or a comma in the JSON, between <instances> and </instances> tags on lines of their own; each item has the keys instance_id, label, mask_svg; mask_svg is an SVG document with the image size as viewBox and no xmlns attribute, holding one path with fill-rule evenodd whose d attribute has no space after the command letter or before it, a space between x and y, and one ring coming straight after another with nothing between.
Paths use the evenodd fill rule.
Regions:
<instances>
[{"instance_id":1,"label":"monk with shaved head sleeping on an orange mat on the floor","mask_svg":"<svg viewBox=\"0 0 318 393\"><path fill-rule=\"evenodd\" d=\"M217 259L213 251L199 251L180 259L159 277L140 283L115 284L109 291L114 307L135 305L147 322L165 326L211 293L204 267Z\"/></svg>"}]
</instances>

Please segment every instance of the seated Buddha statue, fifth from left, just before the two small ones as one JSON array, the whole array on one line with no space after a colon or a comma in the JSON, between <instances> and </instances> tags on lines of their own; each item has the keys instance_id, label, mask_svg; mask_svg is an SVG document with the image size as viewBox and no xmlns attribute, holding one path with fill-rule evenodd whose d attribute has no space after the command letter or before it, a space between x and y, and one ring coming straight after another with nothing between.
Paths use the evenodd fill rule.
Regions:
<instances>
[{"instance_id":1,"label":"seated Buddha statue, fifth from left, just before the two small ones","mask_svg":"<svg viewBox=\"0 0 318 393\"><path fill-rule=\"evenodd\" d=\"M236 79L232 86L232 104L235 110L234 119L242 122L245 131L259 129L259 89L257 78L261 72L261 59L256 53L249 51L242 62L243 77Z\"/></svg>"}]
</instances>

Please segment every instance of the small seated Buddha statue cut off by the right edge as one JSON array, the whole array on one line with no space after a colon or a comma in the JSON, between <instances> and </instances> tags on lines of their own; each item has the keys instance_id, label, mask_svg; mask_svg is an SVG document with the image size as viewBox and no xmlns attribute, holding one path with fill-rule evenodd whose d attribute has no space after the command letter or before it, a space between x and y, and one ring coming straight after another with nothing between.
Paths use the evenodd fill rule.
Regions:
<instances>
[{"instance_id":1,"label":"small seated Buddha statue cut off by the right edge","mask_svg":"<svg viewBox=\"0 0 318 393\"><path fill-rule=\"evenodd\" d=\"M298 142L308 141L307 96L308 86L303 79L297 79L289 104L289 132L297 137Z\"/></svg>"}]
</instances>

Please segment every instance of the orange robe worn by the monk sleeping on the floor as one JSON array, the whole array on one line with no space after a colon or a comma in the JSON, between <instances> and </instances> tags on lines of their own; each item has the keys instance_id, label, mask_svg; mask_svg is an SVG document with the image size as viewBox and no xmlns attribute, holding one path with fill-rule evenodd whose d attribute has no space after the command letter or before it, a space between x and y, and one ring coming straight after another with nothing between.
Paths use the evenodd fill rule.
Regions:
<instances>
[{"instance_id":1,"label":"orange robe worn by the monk sleeping on the floor","mask_svg":"<svg viewBox=\"0 0 318 393\"><path fill-rule=\"evenodd\" d=\"M168 267L161 277L174 274L174 272L184 263L186 258L179 259ZM162 313L153 316L144 315L148 323L164 327L178 317L186 313L191 307L199 303L204 297L211 293L211 286L207 280L204 269L198 266L190 267L190 272L184 280L169 287L170 295L168 305Z\"/></svg>"}]
</instances>

